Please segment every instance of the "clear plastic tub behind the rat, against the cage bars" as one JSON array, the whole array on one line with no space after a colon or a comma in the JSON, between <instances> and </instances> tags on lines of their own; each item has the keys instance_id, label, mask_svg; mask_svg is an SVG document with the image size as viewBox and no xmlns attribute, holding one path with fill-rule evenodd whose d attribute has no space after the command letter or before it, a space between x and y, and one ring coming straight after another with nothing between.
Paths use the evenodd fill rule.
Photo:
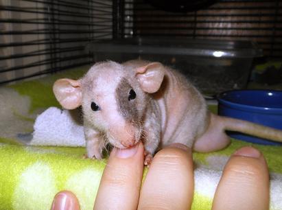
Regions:
<instances>
[{"instance_id":1,"label":"clear plastic tub behind the rat, against the cage bars","mask_svg":"<svg viewBox=\"0 0 282 210\"><path fill-rule=\"evenodd\" d=\"M143 59L184 73L204 93L246 87L253 58L262 50L248 41L187 38L124 38L87 45L95 61Z\"/></svg>"}]
</instances>

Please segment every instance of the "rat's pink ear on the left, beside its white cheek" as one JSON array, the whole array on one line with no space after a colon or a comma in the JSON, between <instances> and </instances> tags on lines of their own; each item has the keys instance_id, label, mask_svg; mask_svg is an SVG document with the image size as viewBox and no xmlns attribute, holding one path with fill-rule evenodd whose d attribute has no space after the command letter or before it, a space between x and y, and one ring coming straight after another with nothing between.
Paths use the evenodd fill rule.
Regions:
<instances>
[{"instance_id":1,"label":"rat's pink ear on the left, beside its white cheek","mask_svg":"<svg viewBox=\"0 0 282 210\"><path fill-rule=\"evenodd\" d=\"M58 102L66 109L74 109L82 104L80 80L57 80L53 92Z\"/></svg>"}]
</instances>

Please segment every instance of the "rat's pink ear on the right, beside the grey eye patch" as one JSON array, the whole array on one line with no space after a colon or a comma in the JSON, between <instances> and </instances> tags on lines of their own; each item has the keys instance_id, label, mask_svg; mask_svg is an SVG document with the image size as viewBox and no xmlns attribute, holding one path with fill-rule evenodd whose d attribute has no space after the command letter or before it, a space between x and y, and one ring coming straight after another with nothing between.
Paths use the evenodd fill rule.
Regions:
<instances>
[{"instance_id":1,"label":"rat's pink ear on the right, beside the grey eye patch","mask_svg":"<svg viewBox=\"0 0 282 210\"><path fill-rule=\"evenodd\" d=\"M155 93L160 88L165 76L164 67L160 62L150 62L148 65L139 67L137 80L141 89L147 93Z\"/></svg>"}]
</instances>

